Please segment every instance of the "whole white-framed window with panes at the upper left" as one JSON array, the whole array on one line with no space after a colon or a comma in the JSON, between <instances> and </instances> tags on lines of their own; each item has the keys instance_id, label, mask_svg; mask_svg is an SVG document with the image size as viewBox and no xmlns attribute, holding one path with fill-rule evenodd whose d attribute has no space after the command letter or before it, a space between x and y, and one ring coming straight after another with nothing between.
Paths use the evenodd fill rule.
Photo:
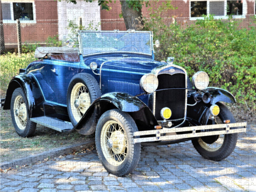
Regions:
<instances>
[{"instance_id":1,"label":"whole white-framed window with panes at the upper left","mask_svg":"<svg viewBox=\"0 0 256 192\"><path fill-rule=\"evenodd\" d=\"M35 22L34 1L2 1L2 14L4 23L13 23L17 19L20 22Z\"/></svg>"}]
</instances>

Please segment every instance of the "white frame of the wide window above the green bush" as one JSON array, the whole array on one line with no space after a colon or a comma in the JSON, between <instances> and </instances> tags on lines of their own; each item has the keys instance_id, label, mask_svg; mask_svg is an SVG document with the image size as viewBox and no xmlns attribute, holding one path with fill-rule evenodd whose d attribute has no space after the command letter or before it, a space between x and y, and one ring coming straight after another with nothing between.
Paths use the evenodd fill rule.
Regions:
<instances>
[{"instance_id":1,"label":"white frame of the wide window above the green bush","mask_svg":"<svg viewBox=\"0 0 256 192\"><path fill-rule=\"evenodd\" d=\"M189 1L189 20L203 20L204 17L191 17L191 1L205 1L205 0L190 0ZM227 16L227 0L208 0L207 1L207 10L206 13L207 15L210 14L210 2L214 2L214 1L224 1L224 15L223 16L214 16L214 19L228 19ZM234 19L243 19L245 18L247 14L247 1L243 1L243 14L242 15L232 15L232 17Z\"/></svg>"}]
</instances>

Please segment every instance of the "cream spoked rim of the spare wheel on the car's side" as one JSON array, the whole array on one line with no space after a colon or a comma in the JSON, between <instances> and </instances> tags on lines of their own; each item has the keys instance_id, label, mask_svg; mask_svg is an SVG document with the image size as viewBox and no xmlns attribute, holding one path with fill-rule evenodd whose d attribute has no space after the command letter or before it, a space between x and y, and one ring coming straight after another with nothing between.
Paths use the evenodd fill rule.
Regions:
<instances>
[{"instance_id":1,"label":"cream spoked rim of the spare wheel on the car's side","mask_svg":"<svg viewBox=\"0 0 256 192\"><path fill-rule=\"evenodd\" d=\"M70 95L70 105L76 122L79 122L91 105L88 89L83 83L77 83L73 87Z\"/></svg>"}]
</instances>

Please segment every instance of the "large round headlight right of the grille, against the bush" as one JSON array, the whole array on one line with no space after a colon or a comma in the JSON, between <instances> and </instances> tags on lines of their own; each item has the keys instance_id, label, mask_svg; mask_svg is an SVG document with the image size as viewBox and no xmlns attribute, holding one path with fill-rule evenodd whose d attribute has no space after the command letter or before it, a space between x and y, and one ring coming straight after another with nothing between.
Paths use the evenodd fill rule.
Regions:
<instances>
[{"instance_id":1,"label":"large round headlight right of the grille, against the bush","mask_svg":"<svg viewBox=\"0 0 256 192\"><path fill-rule=\"evenodd\" d=\"M192 84L196 89L206 89L209 84L209 76L204 71L198 71L192 77Z\"/></svg>"}]
</instances>

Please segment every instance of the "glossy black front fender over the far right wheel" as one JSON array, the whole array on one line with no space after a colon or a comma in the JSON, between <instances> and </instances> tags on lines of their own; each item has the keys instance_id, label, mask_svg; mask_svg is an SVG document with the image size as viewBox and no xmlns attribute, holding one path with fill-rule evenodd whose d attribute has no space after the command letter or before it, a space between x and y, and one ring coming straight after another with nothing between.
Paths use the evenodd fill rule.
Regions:
<instances>
[{"instance_id":1,"label":"glossy black front fender over the far right wheel","mask_svg":"<svg viewBox=\"0 0 256 192\"><path fill-rule=\"evenodd\" d=\"M217 87L209 87L204 92L209 92L211 95L211 101L204 103L203 101L197 102L194 106L187 107L187 120L194 125L206 125L210 116L209 108L211 105L217 104L220 101L226 103L236 103L235 97L225 89ZM190 93L191 94L191 93ZM190 104L195 103L195 100L188 94L188 102ZM193 93L192 93L193 95Z\"/></svg>"}]
</instances>

